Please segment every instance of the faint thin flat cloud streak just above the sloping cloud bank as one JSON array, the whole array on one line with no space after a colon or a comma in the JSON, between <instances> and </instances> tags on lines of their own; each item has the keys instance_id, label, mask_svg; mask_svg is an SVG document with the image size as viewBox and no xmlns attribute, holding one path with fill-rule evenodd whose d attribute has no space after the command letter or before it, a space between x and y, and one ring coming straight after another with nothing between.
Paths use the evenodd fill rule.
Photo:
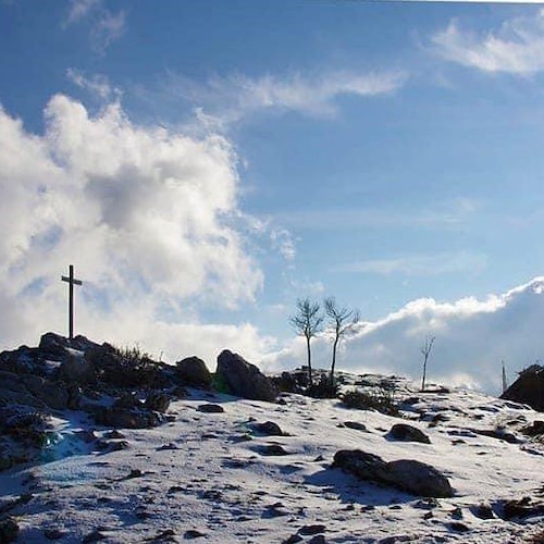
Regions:
<instances>
[{"instance_id":1,"label":"faint thin flat cloud streak just above the sloping cloud bank","mask_svg":"<svg viewBox=\"0 0 544 544\"><path fill-rule=\"evenodd\" d=\"M333 270L335 272L421 276L459 272L478 273L485 268L486 262L485 255L458 251L349 262L338 264Z\"/></svg>"}]
</instances>

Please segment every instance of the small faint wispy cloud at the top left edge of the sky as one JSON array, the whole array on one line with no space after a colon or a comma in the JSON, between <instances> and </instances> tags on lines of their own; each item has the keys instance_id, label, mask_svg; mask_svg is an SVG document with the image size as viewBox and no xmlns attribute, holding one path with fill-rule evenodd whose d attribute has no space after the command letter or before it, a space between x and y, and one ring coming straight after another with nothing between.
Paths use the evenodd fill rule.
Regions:
<instances>
[{"instance_id":1,"label":"small faint wispy cloud at the top left edge of the sky","mask_svg":"<svg viewBox=\"0 0 544 544\"><path fill-rule=\"evenodd\" d=\"M85 20L90 23L90 45L100 54L126 32L126 15L123 10L112 13L104 7L103 0L71 0L64 26Z\"/></svg>"}]
</instances>

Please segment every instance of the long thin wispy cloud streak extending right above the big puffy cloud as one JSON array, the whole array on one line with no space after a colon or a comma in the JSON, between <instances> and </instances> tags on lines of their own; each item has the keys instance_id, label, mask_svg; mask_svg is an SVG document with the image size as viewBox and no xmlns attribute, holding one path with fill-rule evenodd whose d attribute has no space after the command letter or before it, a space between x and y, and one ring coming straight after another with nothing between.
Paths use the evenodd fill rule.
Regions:
<instances>
[{"instance_id":1,"label":"long thin wispy cloud streak extending right above the big puffy cloud","mask_svg":"<svg viewBox=\"0 0 544 544\"><path fill-rule=\"evenodd\" d=\"M309 115L331 115L342 96L370 97L394 92L407 78L405 73L359 74L331 72L317 76L289 77L245 75L212 77L201 85L170 73L165 92L183 98L223 124L239 121L262 110L299 111Z\"/></svg>"}]
</instances>

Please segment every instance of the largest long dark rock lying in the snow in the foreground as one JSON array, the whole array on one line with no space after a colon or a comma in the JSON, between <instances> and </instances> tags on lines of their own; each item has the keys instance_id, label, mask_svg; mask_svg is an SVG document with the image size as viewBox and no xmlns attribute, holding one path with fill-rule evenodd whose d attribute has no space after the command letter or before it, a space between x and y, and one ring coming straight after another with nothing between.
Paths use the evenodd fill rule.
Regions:
<instances>
[{"instance_id":1,"label":"largest long dark rock lying in the snow in the foreground","mask_svg":"<svg viewBox=\"0 0 544 544\"><path fill-rule=\"evenodd\" d=\"M448 479L438 470L424 462L400 459L385 462L381 457L360 449L336 452L333 468L368 480L407 491L424 497L452 497L453 489Z\"/></svg>"}]
</instances>

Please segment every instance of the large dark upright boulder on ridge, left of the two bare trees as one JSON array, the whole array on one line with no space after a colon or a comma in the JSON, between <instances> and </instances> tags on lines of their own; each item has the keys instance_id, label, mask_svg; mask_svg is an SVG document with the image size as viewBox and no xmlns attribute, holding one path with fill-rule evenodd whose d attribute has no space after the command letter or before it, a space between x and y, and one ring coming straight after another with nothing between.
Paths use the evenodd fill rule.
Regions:
<instances>
[{"instance_id":1,"label":"large dark upright boulder on ridge, left of the two bare trees","mask_svg":"<svg viewBox=\"0 0 544 544\"><path fill-rule=\"evenodd\" d=\"M255 364L227 349L218 357L217 372L234 395L270 403L277 396L279 391L272 380L262 374Z\"/></svg>"}]
</instances>

